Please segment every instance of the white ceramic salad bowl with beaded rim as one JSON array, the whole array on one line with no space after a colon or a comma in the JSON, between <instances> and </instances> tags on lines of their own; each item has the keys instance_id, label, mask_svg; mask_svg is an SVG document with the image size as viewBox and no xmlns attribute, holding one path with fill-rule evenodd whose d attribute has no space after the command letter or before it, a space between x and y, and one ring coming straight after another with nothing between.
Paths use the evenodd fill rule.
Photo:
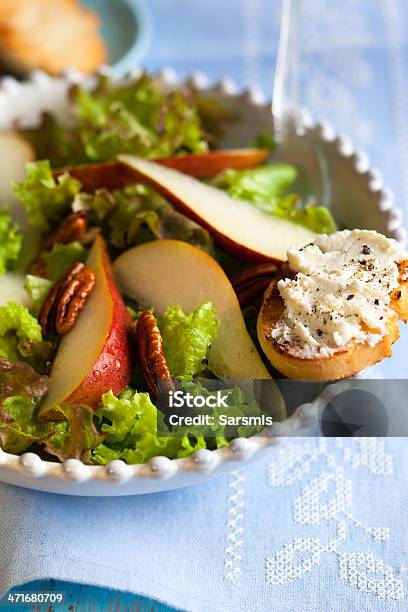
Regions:
<instances>
[{"instance_id":1,"label":"white ceramic salad bowl with beaded rim","mask_svg":"<svg viewBox=\"0 0 408 612\"><path fill-rule=\"evenodd\" d=\"M126 79L136 78L128 75ZM166 85L177 81L171 70L160 73ZM67 115L67 88L81 80L69 72L61 78L35 73L24 83L6 78L0 84L0 129L12 127L16 120L22 125L35 125L43 111L63 118ZM252 144L256 136L272 129L270 103L252 91L237 92L230 80L209 85L203 75L192 77L194 85L220 100L226 100L237 117L225 137L224 145L242 147ZM92 84L92 79L86 81ZM401 211L394 206L393 196L382 186L382 179L370 170L367 157L356 152L349 138L338 137L327 123L314 123L305 115L299 134L288 151L294 164L301 163L312 176L319 172L316 160L299 159L302 139L306 136L319 143L330 164L333 184L333 213L340 225L376 229L398 241L406 238ZM0 451L0 481L53 493L69 495L137 495L176 489L204 482L216 475L236 470L265 453L273 452L276 444L291 436L305 435L316 426L319 402L304 404L285 423L276 423L268 435L237 439L223 449L200 450L186 459L170 460L156 457L145 465L126 465L113 461L107 466L84 465L76 459L64 464L43 461L33 453L21 457Z\"/></svg>"}]
</instances>

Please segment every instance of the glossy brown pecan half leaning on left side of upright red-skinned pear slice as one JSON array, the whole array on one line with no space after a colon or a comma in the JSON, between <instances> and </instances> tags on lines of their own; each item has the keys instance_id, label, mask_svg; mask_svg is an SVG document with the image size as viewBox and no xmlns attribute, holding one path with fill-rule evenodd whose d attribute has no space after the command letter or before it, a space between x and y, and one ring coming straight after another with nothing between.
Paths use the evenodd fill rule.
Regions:
<instances>
[{"instance_id":1,"label":"glossy brown pecan half leaning on left side of upright red-skinned pear slice","mask_svg":"<svg viewBox=\"0 0 408 612\"><path fill-rule=\"evenodd\" d=\"M76 263L64 272L48 294L40 312L43 336L55 332L60 336L74 327L95 286L95 274L83 263Z\"/></svg>"}]
</instances>

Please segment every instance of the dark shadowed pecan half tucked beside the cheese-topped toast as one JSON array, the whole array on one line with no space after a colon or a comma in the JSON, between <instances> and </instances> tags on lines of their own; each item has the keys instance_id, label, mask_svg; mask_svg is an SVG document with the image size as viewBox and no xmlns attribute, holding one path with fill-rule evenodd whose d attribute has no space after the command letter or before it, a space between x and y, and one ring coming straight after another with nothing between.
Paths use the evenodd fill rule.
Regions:
<instances>
[{"instance_id":1,"label":"dark shadowed pecan half tucked beside the cheese-topped toast","mask_svg":"<svg viewBox=\"0 0 408 612\"><path fill-rule=\"evenodd\" d=\"M241 308L258 307L264 291L277 277L279 267L273 262L266 262L247 268L232 279L232 285Z\"/></svg>"}]
</instances>

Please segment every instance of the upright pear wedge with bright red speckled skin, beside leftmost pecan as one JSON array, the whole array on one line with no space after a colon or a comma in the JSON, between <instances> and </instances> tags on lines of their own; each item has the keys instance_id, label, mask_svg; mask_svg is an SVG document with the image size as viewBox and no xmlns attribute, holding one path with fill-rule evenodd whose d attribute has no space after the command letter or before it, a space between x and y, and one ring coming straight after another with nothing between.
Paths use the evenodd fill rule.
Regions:
<instances>
[{"instance_id":1,"label":"upright pear wedge with bright red speckled skin, beside leftmost pecan","mask_svg":"<svg viewBox=\"0 0 408 612\"><path fill-rule=\"evenodd\" d=\"M117 395L130 380L131 319L113 280L100 236L87 266L96 275L95 287L73 329L61 340L49 392L40 408L43 418L56 417L56 404L86 404L94 408L104 393L111 389Z\"/></svg>"}]
</instances>

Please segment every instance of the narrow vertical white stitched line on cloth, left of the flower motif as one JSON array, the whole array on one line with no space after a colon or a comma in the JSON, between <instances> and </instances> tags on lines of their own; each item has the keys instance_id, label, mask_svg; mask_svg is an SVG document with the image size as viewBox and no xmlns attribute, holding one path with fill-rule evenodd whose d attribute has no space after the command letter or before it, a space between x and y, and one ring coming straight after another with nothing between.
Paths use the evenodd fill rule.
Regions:
<instances>
[{"instance_id":1,"label":"narrow vertical white stitched line on cloth, left of the flower motif","mask_svg":"<svg viewBox=\"0 0 408 612\"><path fill-rule=\"evenodd\" d=\"M245 476L233 472L228 484L227 537L224 549L224 580L238 585L241 577L241 550L245 519Z\"/></svg>"}]
</instances>

